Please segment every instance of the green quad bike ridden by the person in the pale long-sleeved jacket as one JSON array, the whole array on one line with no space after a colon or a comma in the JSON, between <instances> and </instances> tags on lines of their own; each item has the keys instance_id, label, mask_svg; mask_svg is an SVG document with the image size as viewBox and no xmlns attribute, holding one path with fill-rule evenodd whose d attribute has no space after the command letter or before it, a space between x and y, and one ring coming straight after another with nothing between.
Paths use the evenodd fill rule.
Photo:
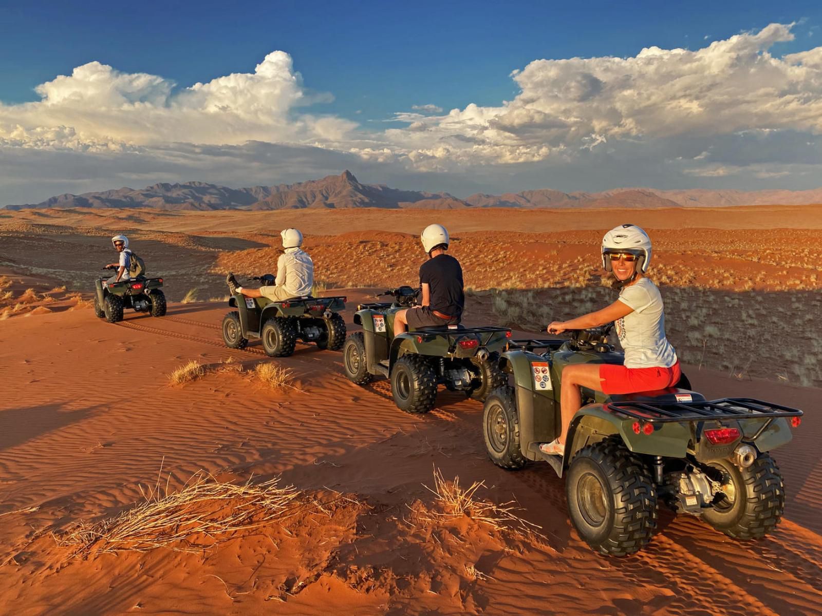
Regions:
<instances>
[{"instance_id":1,"label":"green quad bike ridden by the person in the pale long-sleeved jacket","mask_svg":"<svg viewBox=\"0 0 822 616\"><path fill-rule=\"evenodd\" d=\"M263 287L275 283L271 274L252 279L259 280ZM346 300L307 296L273 301L236 293L229 298L229 306L237 310L223 319L223 341L229 348L245 348L249 339L259 338L270 357L292 355L298 339L339 351L345 342L345 321L339 310L345 310Z\"/></svg>"}]
</instances>

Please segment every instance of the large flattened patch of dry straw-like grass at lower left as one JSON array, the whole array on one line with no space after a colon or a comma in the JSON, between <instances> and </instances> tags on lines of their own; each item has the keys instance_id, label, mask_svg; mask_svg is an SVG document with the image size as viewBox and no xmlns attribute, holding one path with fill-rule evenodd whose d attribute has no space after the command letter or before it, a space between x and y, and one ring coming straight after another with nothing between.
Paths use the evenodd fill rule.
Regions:
<instances>
[{"instance_id":1,"label":"large flattened patch of dry straw-like grass at lower left","mask_svg":"<svg viewBox=\"0 0 822 616\"><path fill-rule=\"evenodd\" d=\"M162 467L160 467L160 474ZM143 489L144 502L95 524L77 522L54 535L58 545L75 549L74 555L145 552L166 547L178 552L200 552L232 538L233 533L256 528L285 517L299 492L279 487L279 478L252 485L223 483L198 471L179 490L160 483Z\"/></svg>"}]
</instances>

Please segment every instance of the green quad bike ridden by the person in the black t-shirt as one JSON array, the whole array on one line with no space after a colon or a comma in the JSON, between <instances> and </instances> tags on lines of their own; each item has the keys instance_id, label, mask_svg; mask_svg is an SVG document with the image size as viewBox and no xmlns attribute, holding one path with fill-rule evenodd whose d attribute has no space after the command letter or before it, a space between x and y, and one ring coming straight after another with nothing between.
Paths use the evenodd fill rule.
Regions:
<instances>
[{"instance_id":1,"label":"green quad bike ridden by the person in the black t-shirt","mask_svg":"<svg viewBox=\"0 0 822 616\"><path fill-rule=\"evenodd\" d=\"M418 294L418 288L399 287L380 294L394 297L393 302L357 306L353 320L363 331L352 333L345 341L345 375L358 385L375 376L389 378L395 404L410 413L431 411L440 384L484 400L505 382L497 364L511 330L447 325L414 329L395 337L394 315L413 306Z\"/></svg>"}]
</instances>

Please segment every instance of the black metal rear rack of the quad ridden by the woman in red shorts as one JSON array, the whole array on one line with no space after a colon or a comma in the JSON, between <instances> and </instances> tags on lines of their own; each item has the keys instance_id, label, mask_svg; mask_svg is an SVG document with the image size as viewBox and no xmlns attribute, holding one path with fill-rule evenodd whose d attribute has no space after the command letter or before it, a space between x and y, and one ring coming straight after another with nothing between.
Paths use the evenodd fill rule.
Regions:
<instances>
[{"instance_id":1,"label":"black metal rear rack of the quad ridden by the woman in red shorts","mask_svg":"<svg viewBox=\"0 0 822 616\"><path fill-rule=\"evenodd\" d=\"M705 402L607 402L607 409L649 424L682 421L764 420L757 436L778 417L801 417L798 408L755 398L720 398Z\"/></svg>"}]
</instances>

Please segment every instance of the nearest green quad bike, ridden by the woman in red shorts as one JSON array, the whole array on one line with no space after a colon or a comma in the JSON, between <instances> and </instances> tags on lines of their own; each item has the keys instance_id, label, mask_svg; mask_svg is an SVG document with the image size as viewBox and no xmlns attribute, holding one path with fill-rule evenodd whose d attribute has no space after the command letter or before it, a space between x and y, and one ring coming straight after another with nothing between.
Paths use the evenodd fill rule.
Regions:
<instances>
[{"instance_id":1,"label":"nearest green quad bike, ridden by the woman in red shorts","mask_svg":"<svg viewBox=\"0 0 822 616\"><path fill-rule=\"evenodd\" d=\"M653 392L606 396L583 388L564 456L540 451L560 434L562 369L623 362L607 343L609 329L573 331L566 341L510 342L500 367L513 384L495 389L484 407L492 462L518 470L545 461L565 475L570 520L600 554L647 545L658 499L737 540L771 531L785 492L770 452L792 439L797 409L752 398L707 401L684 375L677 387Z\"/></svg>"}]
</instances>

